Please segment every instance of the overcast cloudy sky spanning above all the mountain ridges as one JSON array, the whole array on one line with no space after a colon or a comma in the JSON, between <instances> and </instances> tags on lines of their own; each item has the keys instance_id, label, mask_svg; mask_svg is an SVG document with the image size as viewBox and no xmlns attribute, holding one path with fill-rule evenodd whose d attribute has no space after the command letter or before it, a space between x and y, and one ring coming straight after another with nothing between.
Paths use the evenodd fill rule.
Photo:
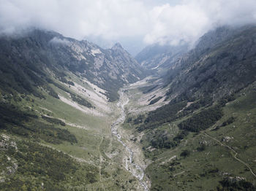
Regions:
<instances>
[{"instance_id":1,"label":"overcast cloudy sky spanning above all the mountain ridges","mask_svg":"<svg viewBox=\"0 0 256 191\"><path fill-rule=\"evenodd\" d=\"M102 42L193 43L255 21L256 0L0 0L0 32L35 26Z\"/></svg>"}]
</instances>

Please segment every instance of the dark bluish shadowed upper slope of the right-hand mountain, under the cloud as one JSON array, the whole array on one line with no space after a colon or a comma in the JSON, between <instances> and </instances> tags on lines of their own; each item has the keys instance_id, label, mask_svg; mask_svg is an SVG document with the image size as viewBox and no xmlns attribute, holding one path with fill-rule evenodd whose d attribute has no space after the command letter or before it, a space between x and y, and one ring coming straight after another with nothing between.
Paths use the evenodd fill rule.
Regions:
<instances>
[{"instance_id":1,"label":"dark bluish shadowed upper slope of the right-hand mountain, under the cloud","mask_svg":"<svg viewBox=\"0 0 256 191\"><path fill-rule=\"evenodd\" d=\"M171 92L221 98L255 81L255 26L217 28L201 37L166 77Z\"/></svg>"}]
</instances>

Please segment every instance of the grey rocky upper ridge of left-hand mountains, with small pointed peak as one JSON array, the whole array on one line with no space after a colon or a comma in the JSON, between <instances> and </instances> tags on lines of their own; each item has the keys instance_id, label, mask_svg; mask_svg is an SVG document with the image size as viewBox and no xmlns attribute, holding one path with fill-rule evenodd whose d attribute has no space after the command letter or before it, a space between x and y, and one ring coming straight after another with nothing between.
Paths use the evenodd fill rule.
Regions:
<instances>
[{"instance_id":1,"label":"grey rocky upper ridge of left-hand mountains, with small pointed peak","mask_svg":"<svg viewBox=\"0 0 256 191\"><path fill-rule=\"evenodd\" d=\"M18 83L17 87L27 83L21 85L25 90L47 81L44 80L46 73L59 76L69 70L108 90L110 101L114 101L118 98L119 87L144 77L142 67L121 44L103 50L85 40L40 30L19 36L1 36L0 44L0 73L5 75L1 82Z\"/></svg>"}]
</instances>

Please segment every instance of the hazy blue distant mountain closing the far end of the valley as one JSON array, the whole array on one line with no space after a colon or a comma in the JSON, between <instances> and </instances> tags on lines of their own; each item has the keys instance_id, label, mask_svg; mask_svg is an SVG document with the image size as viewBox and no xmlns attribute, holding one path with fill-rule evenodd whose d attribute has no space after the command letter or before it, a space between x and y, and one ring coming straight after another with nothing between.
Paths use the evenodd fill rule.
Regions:
<instances>
[{"instance_id":1,"label":"hazy blue distant mountain closing the far end of the valley","mask_svg":"<svg viewBox=\"0 0 256 191\"><path fill-rule=\"evenodd\" d=\"M170 68L170 63L176 61L188 50L189 46L186 43L177 46L152 44L139 52L135 59L146 69L166 71Z\"/></svg>"}]
</instances>

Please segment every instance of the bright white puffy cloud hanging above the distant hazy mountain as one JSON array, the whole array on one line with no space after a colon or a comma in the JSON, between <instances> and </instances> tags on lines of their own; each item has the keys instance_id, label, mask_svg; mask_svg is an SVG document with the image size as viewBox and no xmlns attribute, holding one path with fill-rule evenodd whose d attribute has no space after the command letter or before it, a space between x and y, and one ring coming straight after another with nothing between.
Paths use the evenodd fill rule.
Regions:
<instances>
[{"instance_id":1,"label":"bright white puffy cloud hanging above the distant hazy mountain","mask_svg":"<svg viewBox=\"0 0 256 191\"><path fill-rule=\"evenodd\" d=\"M176 45L181 41L193 42L208 28L208 17L194 5L165 4L151 11L153 30L146 34L148 44L159 42Z\"/></svg>"}]
</instances>

